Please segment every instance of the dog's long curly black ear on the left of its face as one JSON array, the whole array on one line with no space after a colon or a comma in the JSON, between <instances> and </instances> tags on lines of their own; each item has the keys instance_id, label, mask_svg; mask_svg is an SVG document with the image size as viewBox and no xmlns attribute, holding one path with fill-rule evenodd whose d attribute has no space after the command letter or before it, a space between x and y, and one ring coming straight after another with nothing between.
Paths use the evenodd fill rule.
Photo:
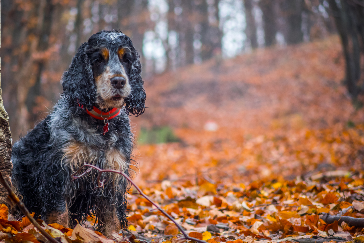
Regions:
<instances>
[{"instance_id":1,"label":"dog's long curly black ear on the left of its face","mask_svg":"<svg viewBox=\"0 0 364 243\"><path fill-rule=\"evenodd\" d=\"M70 105L91 110L95 104L96 88L87 49L86 42L78 48L70 68L64 71L61 80L62 95L68 99Z\"/></svg>"}]
</instances>

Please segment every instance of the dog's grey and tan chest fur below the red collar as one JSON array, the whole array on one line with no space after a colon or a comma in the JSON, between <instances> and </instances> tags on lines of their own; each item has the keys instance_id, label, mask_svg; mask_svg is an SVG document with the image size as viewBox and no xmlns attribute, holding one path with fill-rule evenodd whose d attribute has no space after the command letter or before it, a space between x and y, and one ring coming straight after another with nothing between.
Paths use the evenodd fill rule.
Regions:
<instances>
[{"instance_id":1,"label":"dog's grey and tan chest fur below the red collar","mask_svg":"<svg viewBox=\"0 0 364 243\"><path fill-rule=\"evenodd\" d=\"M60 112L54 112L52 123L60 123L65 117ZM62 114L62 113L61 113ZM75 172L84 163L97 165L102 169L128 169L131 150L130 127L128 117L120 114L109 121L109 131L102 134L103 121L84 119L72 116L65 128L51 126L51 139L61 146L63 152L61 163ZM91 124L90 124L91 123ZM63 123L65 124L65 123ZM127 148L127 150L125 150Z\"/></svg>"}]
</instances>

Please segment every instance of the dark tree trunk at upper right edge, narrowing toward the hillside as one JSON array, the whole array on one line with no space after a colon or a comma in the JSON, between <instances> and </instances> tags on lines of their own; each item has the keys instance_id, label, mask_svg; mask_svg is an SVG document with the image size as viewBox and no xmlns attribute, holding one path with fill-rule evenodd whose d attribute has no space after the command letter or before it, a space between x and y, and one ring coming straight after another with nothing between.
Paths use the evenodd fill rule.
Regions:
<instances>
[{"instance_id":1,"label":"dark tree trunk at upper right edge, narrowing toward the hillside","mask_svg":"<svg viewBox=\"0 0 364 243\"><path fill-rule=\"evenodd\" d=\"M360 55L364 54L364 1L329 0L331 14L343 45L345 83L354 101L364 89L361 78Z\"/></svg>"}]
</instances>

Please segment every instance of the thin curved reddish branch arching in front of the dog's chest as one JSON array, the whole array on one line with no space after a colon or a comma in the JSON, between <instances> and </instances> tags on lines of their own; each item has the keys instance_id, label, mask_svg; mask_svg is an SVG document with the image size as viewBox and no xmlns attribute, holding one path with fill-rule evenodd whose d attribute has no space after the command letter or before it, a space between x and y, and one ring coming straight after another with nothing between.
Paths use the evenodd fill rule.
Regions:
<instances>
[{"instance_id":1,"label":"thin curved reddish branch arching in front of the dog's chest","mask_svg":"<svg viewBox=\"0 0 364 243\"><path fill-rule=\"evenodd\" d=\"M157 203L154 203L147 195L145 195L143 193L143 191L123 171L117 171L117 170L101 170L99 167L93 166L92 164L83 164L83 166L78 171L76 171L74 174L72 174L71 177L73 179L77 179L80 176L83 176L84 174L86 174L88 171L90 171L90 170L87 170L86 172L82 173L80 176L76 176L76 174L78 172L80 172L82 170L82 168L84 168L84 167L92 167L95 170L99 171L99 176L97 177L99 187L102 187L102 185L103 185L103 182L100 182L100 176L101 176L101 174L103 172L114 172L114 173L117 173L117 174L120 174L120 175L124 176L124 178L127 179L135 187L135 189L137 189L137 191L139 192L140 195L142 195L151 204L153 204L159 211L162 212L162 214L164 214L169 220L171 220L177 226L178 230L181 231L182 235L184 236L183 239L185 239L185 240L194 240L195 242L199 242L199 243L207 243L205 240L200 240L200 239L196 239L196 238L193 238L193 237L188 236L187 233L183 230L182 226L180 226L174 220L174 218L171 217L169 214L167 214L166 211L164 211Z\"/></svg>"}]
</instances>

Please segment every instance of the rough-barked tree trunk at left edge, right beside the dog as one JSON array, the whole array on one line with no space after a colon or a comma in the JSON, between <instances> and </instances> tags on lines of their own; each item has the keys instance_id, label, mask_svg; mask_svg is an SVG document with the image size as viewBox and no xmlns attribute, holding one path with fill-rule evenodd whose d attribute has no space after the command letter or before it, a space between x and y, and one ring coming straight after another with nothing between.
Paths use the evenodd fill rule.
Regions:
<instances>
[{"instance_id":1,"label":"rough-barked tree trunk at left edge, right beside the dog","mask_svg":"<svg viewBox=\"0 0 364 243\"><path fill-rule=\"evenodd\" d=\"M1 16L1 11L0 11ZM1 26L1 18L0 18ZM0 29L1 37L1 29ZM0 38L0 48L1 48L1 38ZM1 71L1 59L0 59L0 71ZM11 132L9 128L9 117L8 113L5 111L3 99L1 98L1 73L0 73L0 172L3 175L6 182L11 186L11 174L12 174L12 163L11 159ZM0 203L7 204L8 208L10 205L6 202L8 196L7 190L0 186Z\"/></svg>"}]
</instances>

